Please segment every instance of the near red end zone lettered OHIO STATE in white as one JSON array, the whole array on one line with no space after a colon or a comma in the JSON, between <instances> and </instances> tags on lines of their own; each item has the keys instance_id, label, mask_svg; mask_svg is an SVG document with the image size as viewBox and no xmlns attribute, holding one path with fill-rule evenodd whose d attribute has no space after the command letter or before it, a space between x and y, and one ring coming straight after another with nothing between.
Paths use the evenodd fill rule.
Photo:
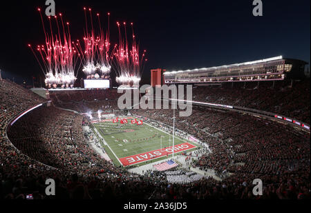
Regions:
<instances>
[{"instance_id":1,"label":"near red end zone lettered OHIO STATE in white","mask_svg":"<svg viewBox=\"0 0 311 213\"><path fill-rule=\"evenodd\" d=\"M153 150L150 152L144 152L142 154L135 154L132 156L126 156L122 159L119 159L121 161L121 163L126 166L126 165L133 165L136 163L142 163L144 161L149 161L149 160L153 160L153 159L158 159L162 156L167 156L167 154L173 154L173 150L174 153L178 153L178 152L184 152L186 150L190 150L196 148L196 145L192 145L190 143L182 143L182 144L178 144L178 145L174 145L169 147L169 148L164 148L161 150Z\"/></svg>"}]
</instances>

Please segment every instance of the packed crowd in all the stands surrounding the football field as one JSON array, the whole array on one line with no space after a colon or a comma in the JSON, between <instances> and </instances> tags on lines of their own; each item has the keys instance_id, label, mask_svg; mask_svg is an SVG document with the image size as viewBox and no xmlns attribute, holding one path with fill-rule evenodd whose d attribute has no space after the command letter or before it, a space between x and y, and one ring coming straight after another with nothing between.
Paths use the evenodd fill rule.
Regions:
<instances>
[{"instance_id":1,"label":"packed crowd in all the stands surrounding the football field","mask_svg":"<svg viewBox=\"0 0 311 213\"><path fill-rule=\"evenodd\" d=\"M194 94L197 100L249 108L258 106L267 111L279 105L277 112L293 117L301 114L292 109L301 106L302 110L309 109L301 120L308 121L308 114L310 119L310 103L305 102L310 100L310 90L304 83L294 83L292 90L288 90L292 92L287 93L282 92L282 86L275 85L275 88L279 90L211 88L205 89L205 93L198 88ZM275 100L265 98L269 97L269 91L276 91L271 94ZM51 94L51 98L55 105L77 112L89 108L96 111L107 105L117 108L115 92L84 92ZM283 95L279 97L279 94ZM296 101L291 101L292 97L296 97ZM172 176L169 173L133 174L100 159L82 135L82 125L88 121L54 106L37 108L21 117L8 129L9 141L8 123L19 113L46 100L6 80L0 81L0 99L1 199L25 199L26 194L33 194L35 199L48 199L44 193L47 178L55 179L57 191L61 192L55 198L258 199L252 194L252 181L258 178L265 183L260 199L310 198L310 133L289 125L200 107L194 107L189 117L179 117L176 113L176 128L208 143L212 151L201 154L192 165L203 171L212 168L223 176L221 182L200 179L200 176L193 176L195 181L178 181L181 175L171 177L180 184L169 183L167 175ZM94 99L99 102L94 104ZM266 102L269 100L272 102ZM288 106L285 101L293 105ZM133 114L172 124L171 110L133 110Z\"/></svg>"}]
</instances>

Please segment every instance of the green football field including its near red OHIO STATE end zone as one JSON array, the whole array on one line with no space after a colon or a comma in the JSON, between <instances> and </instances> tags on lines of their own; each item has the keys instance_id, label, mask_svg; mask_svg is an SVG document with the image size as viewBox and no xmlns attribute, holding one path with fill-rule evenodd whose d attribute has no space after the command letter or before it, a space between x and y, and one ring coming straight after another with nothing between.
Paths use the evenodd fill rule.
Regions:
<instances>
[{"instance_id":1,"label":"green football field including its near red OHIO STATE end zone","mask_svg":"<svg viewBox=\"0 0 311 213\"><path fill-rule=\"evenodd\" d=\"M172 155L169 152L171 150L166 151L166 149L173 146L173 137L171 135L146 123L142 125L132 124L131 120L132 118L127 119L127 124L121 124L120 121L119 123L113 123L112 121L93 123L94 128L108 144L104 148L115 165L142 165L160 161ZM185 150L182 150L178 145L182 145ZM188 148L186 148L187 146ZM176 150L174 152L176 154L186 150L189 152L197 147L198 145L195 145L195 143L175 137L174 148ZM158 152L154 152L156 150Z\"/></svg>"}]
</instances>

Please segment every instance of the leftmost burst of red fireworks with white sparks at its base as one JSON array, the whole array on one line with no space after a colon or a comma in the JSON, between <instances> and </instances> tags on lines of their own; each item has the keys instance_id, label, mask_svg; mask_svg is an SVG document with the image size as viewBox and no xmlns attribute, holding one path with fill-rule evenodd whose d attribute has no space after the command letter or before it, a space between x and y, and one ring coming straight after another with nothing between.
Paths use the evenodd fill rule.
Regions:
<instances>
[{"instance_id":1,"label":"leftmost burst of red fireworks with white sparks at its base","mask_svg":"<svg viewBox=\"0 0 311 213\"><path fill-rule=\"evenodd\" d=\"M77 79L75 69L80 55L71 44L69 23L64 23L62 14L59 14L59 17L48 17L50 29L47 31L40 8L38 8L38 11L44 29L45 45L37 45L36 52L32 45L28 44L28 46L44 72L45 82L49 88L51 85L55 88L57 85L73 87L75 79ZM51 19L55 21L51 21ZM53 29L54 22L57 26L56 32Z\"/></svg>"}]
</instances>

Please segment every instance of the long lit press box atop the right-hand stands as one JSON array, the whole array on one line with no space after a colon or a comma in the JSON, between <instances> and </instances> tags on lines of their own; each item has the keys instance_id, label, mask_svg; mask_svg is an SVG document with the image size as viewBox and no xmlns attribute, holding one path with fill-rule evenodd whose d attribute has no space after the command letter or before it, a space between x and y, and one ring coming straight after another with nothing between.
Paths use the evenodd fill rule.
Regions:
<instances>
[{"instance_id":1,"label":"long lit press box atop the right-hand stands","mask_svg":"<svg viewBox=\"0 0 311 213\"><path fill-rule=\"evenodd\" d=\"M304 77L305 61L282 56L194 70L164 72L164 83L219 83L241 81L281 81Z\"/></svg>"}]
</instances>

